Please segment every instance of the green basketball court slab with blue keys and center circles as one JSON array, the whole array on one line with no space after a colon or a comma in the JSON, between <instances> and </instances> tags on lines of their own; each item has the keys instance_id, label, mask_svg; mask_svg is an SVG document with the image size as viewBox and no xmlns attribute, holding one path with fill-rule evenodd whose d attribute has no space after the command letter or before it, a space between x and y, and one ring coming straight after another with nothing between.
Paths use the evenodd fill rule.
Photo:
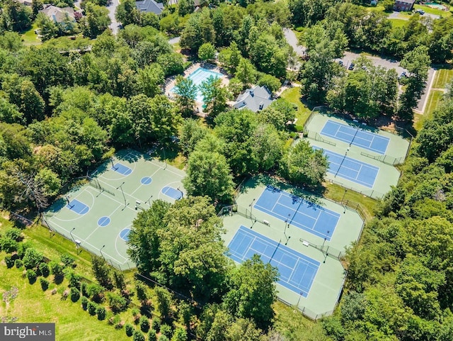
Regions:
<instances>
[{"instance_id":1,"label":"green basketball court slab with blue keys and center circles","mask_svg":"<svg viewBox=\"0 0 453 341\"><path fill-rule=\"evenodd\" d=\"M120 269L134 264L127 240L137 213L156 199L173 203L183 198L185 173L134 150L118 152L50 206L44 223L84 249L103 256Z\"/></svg>"}]
</instances>

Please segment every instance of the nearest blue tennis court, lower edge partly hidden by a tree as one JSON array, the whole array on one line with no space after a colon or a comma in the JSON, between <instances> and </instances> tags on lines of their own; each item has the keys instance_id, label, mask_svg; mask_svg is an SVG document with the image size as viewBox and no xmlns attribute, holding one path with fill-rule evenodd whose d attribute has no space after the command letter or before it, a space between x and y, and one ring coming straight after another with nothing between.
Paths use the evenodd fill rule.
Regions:
<instances>
[{"instance_id":1,"label":"nearest blue tennis court, lower edge partly hidden by a tree","mask_svg":"<svg viewBox=\"0 0 453 341\"><path fill-rule=\"evenodd\" d=\"M289 247L241 226L228 245L228 256L242 263L260 255L264 263L277 267L278 284L304 297L308 296L319 262Z\"/></svg>"}]
</instances>

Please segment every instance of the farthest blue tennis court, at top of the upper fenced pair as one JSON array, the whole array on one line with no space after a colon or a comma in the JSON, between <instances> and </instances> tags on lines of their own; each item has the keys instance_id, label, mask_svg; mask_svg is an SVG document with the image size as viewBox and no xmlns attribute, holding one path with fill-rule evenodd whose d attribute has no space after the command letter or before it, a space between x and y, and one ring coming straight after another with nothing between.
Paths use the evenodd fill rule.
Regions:
<instances>
[{"instance_id":1,"label":"farthest blue tennis court, at top of the upper fenced pair","mask_svg":"<svg viewBox=\"0 0 453 341\"><path fill-rule=\"evenodd\" d=\"M328 120L321 130L321 135L326 135L337 140L362 147L372 152L384 155L389 145L389 138L385 136L369 133L350 125L341 124Z\"/></svg>"}]
</instances>

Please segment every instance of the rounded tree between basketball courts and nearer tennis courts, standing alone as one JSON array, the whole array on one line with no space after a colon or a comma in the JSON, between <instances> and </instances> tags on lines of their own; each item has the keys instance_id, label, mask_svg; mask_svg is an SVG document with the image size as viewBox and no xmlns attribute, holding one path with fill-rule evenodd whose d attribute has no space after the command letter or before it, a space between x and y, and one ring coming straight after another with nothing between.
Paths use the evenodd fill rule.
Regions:
<instances>
[{"instance_id":1,"label":"rounded tree between basketball courts and nearer tennis courts, standing alone","mask_svg":"<svg viewBox=\"0 0 453 341\"><path fill-rule=\"evenodd\" d=\"M231 201L234 183L223 155L195 149L188 158L186 173L183 184L189 195L206 195L213 202Z\"/></svg>"}]
</instances>

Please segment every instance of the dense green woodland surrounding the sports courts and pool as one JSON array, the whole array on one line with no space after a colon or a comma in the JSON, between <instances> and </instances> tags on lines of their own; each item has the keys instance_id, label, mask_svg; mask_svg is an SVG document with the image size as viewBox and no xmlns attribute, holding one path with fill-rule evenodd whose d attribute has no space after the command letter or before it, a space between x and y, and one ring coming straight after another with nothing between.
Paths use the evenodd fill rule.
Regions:
<instances>
[{"instance_id":1,"label":"dense green woodland surrounding the sports courts and pool","mask_svg":"<svg viewBox=\"0 0 453 341\"><path fill-rule=\"evenodd\" d=\"M384 11L362 1L201 2L197 11L191 0L165 3L156 16L122 1L115 14L122 28L113 35L106 1L82 1L83 15L62 23L43 15L39 0L0 1L1 209L37 216L115 150L164 146L168 161L185 167L190 196L173 205L155 201L139 214L130 257L140 274L204 307L188 313L183 328L199 340L453 340L451 88L423 127L412 128L428 69L448 67L453 57L452 16L414 13L395 27L388 0ZM42 43L30 45L23 34L35 28ZM298 33L303 58L283 28ZM338 64L345 50L394 58L408 75L398 79L364 55L348 71ZM229 86L202 84L203 118L194 84L181 76L193 61L216 62L229 74ZM163 91L169 77L178 84L175 99ZM303 124L292 124L296 104L279 98L258 113L228 106L249 86L276 95L285 81L300 84L308 108L327 105L371 124L384 117L416 134L398 186L377 201L361 240L346 250L338 309L304 336L275 316L275 269L257 258L236 268L224 257L216 215L253 174L325 191L326 157L304 140L292 143ZM195 232L184 223L194 217L203 221ZM25 257L16 239L2 235L0 249ZM93 259L100 287L86 296L96 301L96 291L105 290L115 310L130 292L99 262ZM30 269L40 267L32 263ZM143 289L133 291L142 292L146 308ZM159 295L164 302L170 294Z\"/></svg>"}]
</instances>

